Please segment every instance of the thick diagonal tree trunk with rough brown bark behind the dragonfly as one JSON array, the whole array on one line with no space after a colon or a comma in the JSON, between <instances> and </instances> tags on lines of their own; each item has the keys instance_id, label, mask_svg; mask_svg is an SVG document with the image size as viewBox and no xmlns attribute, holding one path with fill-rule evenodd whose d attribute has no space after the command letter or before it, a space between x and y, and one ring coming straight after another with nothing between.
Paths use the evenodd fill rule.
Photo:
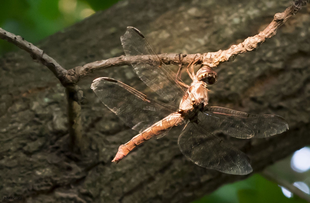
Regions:
<instances>
[{"instance_id":1,"label":"thick diagonal tree trunk with rough brown bark behind the dragonfly","mask_svg":"<svg viewBox=\"0 0 310 203\"><path fill-rule=\"evenodd\" d=\"M66 69L123 54L119 37L140 29L157 53L227 49L253 36L291 1L121 1L39 43ZM268 139L232 143L248 154L254 171L310 144L310 6L303 8L256 52L217 71L211 106L284 117L290 130ZM27 39L26 39L27 40ZM138 90L131 67L113 67L82 79L88 101L82 123L89 148L68 147L65 90L43 65L20 50L0 59L0 197L25 202L189 202L246 176L201 168L183 157L178 132L149 140L118 164L120 144L136 132L105 108L90 89L98 76ZM2 201L3 199L1 199Z\"/></svg>"}]
</instances>

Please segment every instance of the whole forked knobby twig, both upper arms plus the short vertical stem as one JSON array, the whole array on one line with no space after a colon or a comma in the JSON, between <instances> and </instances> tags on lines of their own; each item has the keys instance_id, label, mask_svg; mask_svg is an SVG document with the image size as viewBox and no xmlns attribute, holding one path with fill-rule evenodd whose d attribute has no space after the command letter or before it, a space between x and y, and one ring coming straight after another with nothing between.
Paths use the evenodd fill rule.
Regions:
<instances>
[{"instance_id":1,"label":"whole forked knobby twig, both upper arms plus the short vertical stem","mask_svg":"<svg viewBox=\"0 0 310 203\"><path fill-rule=\"evenodd\" d=\"M200 58L197 63L202 63L209 67L217 67L220 63L225 61L231 61L236 55L245 53L247 51L254 50L259 44L263 43L267 38L274 36L277 29L286 22L288 18L296 14L296 12L304 5L308 0L294 0L293 4L289 6L284 12L274 15L273 21L259 34L248 37L245 41L238 45L232 45L227 50L219 50L217 52L210 52L204 54L183 54L182 63L191 63L195 58ZM21 49L27 51L33 60L40 62L48 67L54 75L58 78L60 83L66 88L67 101L68 101L68 120L69 120L69 132L73 148L77 147L82 149L83 137L82 137L82 125L81 125L81 91L76 85L78 81L87 76L89 73L98 71L103 68L112 66L124 66L132 63L152 63L150 55L142 56L120 56L115 58L109 58L102 61L95 61L87 63L83 66L74 67L70 70L66 70L61 67L53 58L49 57L43 50L34 46L33 44L24 40L20 36L16 36L10 32L7 32L0 28L0 38L4 39L12 44L17 45ZM159 54L162 62L165 64L179 65L179 54ZM78 145L78 146L76 146Z\"/></svg>"}]
</instances>

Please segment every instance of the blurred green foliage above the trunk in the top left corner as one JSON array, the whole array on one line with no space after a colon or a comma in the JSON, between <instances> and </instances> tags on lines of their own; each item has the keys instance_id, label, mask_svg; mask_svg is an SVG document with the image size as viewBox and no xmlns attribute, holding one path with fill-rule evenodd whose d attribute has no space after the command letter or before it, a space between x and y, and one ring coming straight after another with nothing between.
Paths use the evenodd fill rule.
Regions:
<instances>
[{"instance_id":1,"label":"blurred green foliage above the trunk in the top left corner","mask_svg":"<svg viewBox=\"0 0 310 203\"><path fill-rule=\"evenodd\" d=\"M31 43L107 9L119 0L10 0L0 6L0 27ZM0 55L18 48L0 40Z\"/></svg>"}]
</instances>

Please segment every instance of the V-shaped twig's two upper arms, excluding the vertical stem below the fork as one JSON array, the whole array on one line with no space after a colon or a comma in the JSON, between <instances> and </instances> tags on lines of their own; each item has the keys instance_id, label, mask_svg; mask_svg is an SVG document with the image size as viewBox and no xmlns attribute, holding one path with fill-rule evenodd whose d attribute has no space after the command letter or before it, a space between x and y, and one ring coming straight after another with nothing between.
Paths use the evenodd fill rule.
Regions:
<instances>
[{"instance_id":1,"label":"V-shaped twig's two upper arms, excluding the vertical stem below the fork","mask_svg":"<svg viewBox=\"0 0 310 203\"><path fill-rule=\"evenodd\" d=\"M259 34L253 37L248 37L237 45L232 45L227 50L219 50L217 52L209 52L204 54L184 54L182 63L188 64L197 56L201 58L198 63L202 63L209 67L217 67L220 63L225 61L232 61L236 55L254 50L258 47L258 45L266 41L266 39L274 36L277 32L277 29L292 15L295 15L302 6L307 4L307 2L308 0L295 0L292 5L290 5L285 11L275 14L273 21L262 32L259 32ZM74 67L66 71L53 58L45 54L43 50L40 50L36 46L25 41L22 37L15 36L14 34L0 28L0 38L17 45L21 49L26 50L28 53L30 53L34 60L40 61L42 64L46 65L60 80L60 82L64 84L64 86L66 84L76 84L82 77L85 77L89 73L103 68L112 66L125 66L132 63L152 63L152 57L149 55L120 56L87 63L83 66ZM159 54L158 56L165 64L179 65L179 54Z\"/></svg>"}]
</instances>

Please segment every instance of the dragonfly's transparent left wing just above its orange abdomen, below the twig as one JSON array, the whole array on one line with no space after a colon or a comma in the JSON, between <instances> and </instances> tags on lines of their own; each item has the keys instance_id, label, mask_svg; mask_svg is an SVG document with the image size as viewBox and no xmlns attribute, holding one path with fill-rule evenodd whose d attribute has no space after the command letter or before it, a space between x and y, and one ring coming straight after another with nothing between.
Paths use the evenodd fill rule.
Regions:
<instances>
[{"instance_id":1,"label":"dragonfly's transparent left wing just above its orange abdomen, below the twig","mask_svg":"<svg viewBox=\"0 0 310 203\"><path fill-rule=\"evenodd\" d=\"M126 125L139 132L177 109L107 77L95 79L91 89Z\"/></svg>"}]
</instances>

